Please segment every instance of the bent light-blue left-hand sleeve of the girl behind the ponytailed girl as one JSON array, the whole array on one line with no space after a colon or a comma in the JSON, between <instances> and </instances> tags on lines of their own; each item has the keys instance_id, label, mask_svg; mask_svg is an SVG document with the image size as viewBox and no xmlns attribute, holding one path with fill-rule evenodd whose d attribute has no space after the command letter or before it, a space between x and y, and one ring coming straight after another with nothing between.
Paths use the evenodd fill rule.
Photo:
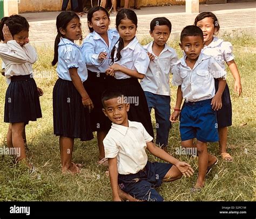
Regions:
<instances>
[{"instance_id":1,"label":"bent light-blue left-hand sleeve of the girl behind the ponytailed girl","mask_svg":"<svg viewBox=\"0 0 256 219\"><path fill-rule=\"evenodd\" d=\"M91 42L90 39L85 39L82 45L82 54L86 65L99 66L102 63L102 60L98 59L99 53L96 52L95 42Z\"/></svg>"}]
</instances>

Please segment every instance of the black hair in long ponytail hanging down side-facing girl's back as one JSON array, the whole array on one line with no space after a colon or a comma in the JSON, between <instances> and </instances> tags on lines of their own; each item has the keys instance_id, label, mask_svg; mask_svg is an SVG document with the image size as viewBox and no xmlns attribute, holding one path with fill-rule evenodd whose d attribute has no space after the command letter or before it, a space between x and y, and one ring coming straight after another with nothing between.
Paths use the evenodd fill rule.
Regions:
<instances>
[{"instance_id":1,"label":"black hair in long ponytail hanging down side-facing girl's back","mask_svg":"<svg viewBox=\"0 0 256 219\"><path fill-rule=\"evenodd\" d=\"M54 44L54 58L51 62L52 66L55 66L58 62L58 44L60 42L60 37L64 37L62 35L62 33L60 33L60 28L62 29L66 29L66 27L68 26L69 22L73 19L73 18L79 18L79 16L74 13L74 12L70 12L70 11L63 11L61 12L57 18L56 18L56 27L57 27L57 36L55 38L55 44Z\"/></svg>"}]
</instances>

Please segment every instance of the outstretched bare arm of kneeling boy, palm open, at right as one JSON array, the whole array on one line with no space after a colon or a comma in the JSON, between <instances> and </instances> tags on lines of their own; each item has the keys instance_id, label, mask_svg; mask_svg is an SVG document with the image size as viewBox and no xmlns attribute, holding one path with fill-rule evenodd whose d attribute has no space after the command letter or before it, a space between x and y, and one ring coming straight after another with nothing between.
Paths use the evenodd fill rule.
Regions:
<instances>
[{"instance_id":1,"label":"outstretched bare arm of kneeling boy, palm open, at right","mask_svg":"<svg viewBox=\"0 0 256 219\"><path fill-rule=\"evenodd\" d=\"M176 158L173 158L173 156L166 153L163 149L154 145L152 141L147 142L147 149L150 151L151 154L157 156L158 158L166 162L169 162L175 165L185 177L186 176L190 177L193 175L194 170L191 168L191 166L188 163L182 162L177 160Z\"/></svg>"}]
</instances>

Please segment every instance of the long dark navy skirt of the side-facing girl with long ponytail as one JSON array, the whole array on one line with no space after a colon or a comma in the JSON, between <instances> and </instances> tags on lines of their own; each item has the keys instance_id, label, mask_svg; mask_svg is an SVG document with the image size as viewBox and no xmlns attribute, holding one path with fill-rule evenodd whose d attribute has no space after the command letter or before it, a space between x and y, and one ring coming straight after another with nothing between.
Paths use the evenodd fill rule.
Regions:
<instances>
[{"instance_id":1,"label":"long dark navy skirt of the side-facing girl with long ponytail","mask_svg":"<svg viewBox=\"0 0 256 219\"><path fill-rule=\"evenodd\" d=\"M53 131L66 138L93 139L89 110L72 81L59 78L53 87Z\"/></svg>"}]
</instances>

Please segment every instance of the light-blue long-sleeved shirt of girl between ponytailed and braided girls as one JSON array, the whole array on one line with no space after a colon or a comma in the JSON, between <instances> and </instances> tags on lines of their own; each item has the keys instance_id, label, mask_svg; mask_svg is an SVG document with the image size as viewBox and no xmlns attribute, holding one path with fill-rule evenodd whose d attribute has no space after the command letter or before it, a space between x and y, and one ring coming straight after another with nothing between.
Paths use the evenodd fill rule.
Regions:
<instances>
[{"instance_id":1,"label":"light-blue long-sleeved shirt of girl between ponytailed and braided girls","mask_svg":"<svg viewBox=\"0 0 256 219\"><path fill-rule=\"evenodd\" d=\"M111 64L111 51L119 39L119 33L116 29L107 31L109 46L105 40L95 31L86 36L82 45L82 54L85 59L87 69L92 72L105 72ZM99 60L99 53L106 52L107 59Z\"/></svg>"}]
</instances>

